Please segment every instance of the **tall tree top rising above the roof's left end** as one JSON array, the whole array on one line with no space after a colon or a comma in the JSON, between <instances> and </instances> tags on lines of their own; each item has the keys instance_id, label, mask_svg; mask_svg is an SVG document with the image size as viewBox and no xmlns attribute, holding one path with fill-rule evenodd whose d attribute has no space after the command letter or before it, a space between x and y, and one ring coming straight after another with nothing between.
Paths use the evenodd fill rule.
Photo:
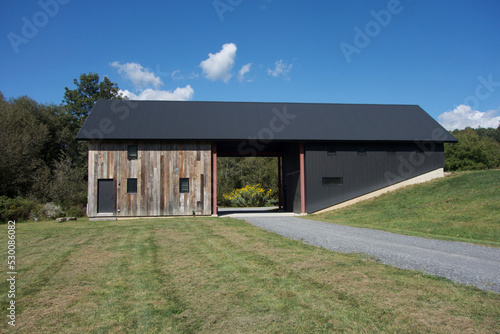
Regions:
<instances>
[{"instance_id":1,"label":"tall tree top rising above the roof's left end","mask_svg":"<svg viewBox=\"0 0 500 334\"><path fill-rule=\"evenodd\" d=\"M76 86L75 89L64 88L63 103L68 112L78 121L78 128L81 127L97 100L122 99L117 84L107 77L99 82L97 73L81 74L80 81L73 79L73 83Z\"/></svg>"}]
</instances>

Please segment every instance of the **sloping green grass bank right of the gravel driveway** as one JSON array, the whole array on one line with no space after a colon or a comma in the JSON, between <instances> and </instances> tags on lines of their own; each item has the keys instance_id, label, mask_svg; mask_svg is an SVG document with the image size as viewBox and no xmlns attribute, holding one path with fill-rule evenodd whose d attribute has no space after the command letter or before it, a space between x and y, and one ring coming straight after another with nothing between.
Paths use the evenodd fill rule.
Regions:
<instances>
[{"instance_id":1,"label":"sloping green grass bank right of the gravel driveway","mask_svg":"<svg viewBox=\"0 0 500 334\"><path fill-rule=\"evenodd\" d=\"M457 172L307 218L500 247L500 171Z\"/></svg>"}]
</instances>

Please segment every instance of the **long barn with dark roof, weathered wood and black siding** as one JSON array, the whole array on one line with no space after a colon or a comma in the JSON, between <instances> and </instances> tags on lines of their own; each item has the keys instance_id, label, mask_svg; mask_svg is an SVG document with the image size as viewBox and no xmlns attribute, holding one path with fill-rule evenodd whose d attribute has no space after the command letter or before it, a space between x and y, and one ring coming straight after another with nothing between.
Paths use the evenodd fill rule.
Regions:
<instances>
[{"instance_id":1,"label":"long barn with dark roof, weathered wood and black siding","mask_svg":"<svg viewBox=\"0 0 500 334\"><path fill-rule=\"evenodd\" d=\"M314 213L443 176L456 142L417 105L97 101L89 217L217 214L217 157L278 157L285 211Z\"/></svg>"}]
</instances>

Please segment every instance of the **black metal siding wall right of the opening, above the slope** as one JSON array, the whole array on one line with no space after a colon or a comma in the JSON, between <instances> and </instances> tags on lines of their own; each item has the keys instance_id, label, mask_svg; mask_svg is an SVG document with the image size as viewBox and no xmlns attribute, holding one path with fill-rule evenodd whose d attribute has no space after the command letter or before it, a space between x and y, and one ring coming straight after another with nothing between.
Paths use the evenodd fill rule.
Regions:
<instances>
[{"instance_id":1,"label":"black metal siding wall right of the opening, above the slope","mask_svg":"<svg viewBox=\"0 0 500 334\"><path fill-rule=\"evenodd\" d=\"M360 142L305 148L308 213L444 167L443 144L439 143ZM359 148L366 153L358 153ZM323 186L323 177L342 177L343 184Z\"/></svg>"}]
</instances>

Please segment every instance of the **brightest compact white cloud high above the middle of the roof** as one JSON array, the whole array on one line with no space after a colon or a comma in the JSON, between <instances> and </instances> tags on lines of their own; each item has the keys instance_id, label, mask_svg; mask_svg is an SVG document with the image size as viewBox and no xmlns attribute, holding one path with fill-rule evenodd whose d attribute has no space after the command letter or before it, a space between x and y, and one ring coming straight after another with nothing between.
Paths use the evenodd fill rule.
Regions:
<instances>
[{"instance_id":1,"label":"brightest compact white cloud high above the middle of the roof","mask_svg":"<svg viewBox=\"0 0 500 334\"><path fill-rule=\"evenodd\" d=\"M237 48L234 43L227 43L222 46L222 50L218 53L209 53L208 59L200 63L205 77L212 81L222 80L227 83L233 76L231 70L234 66L236 50Z\"/></svg>"}]
</instances>

